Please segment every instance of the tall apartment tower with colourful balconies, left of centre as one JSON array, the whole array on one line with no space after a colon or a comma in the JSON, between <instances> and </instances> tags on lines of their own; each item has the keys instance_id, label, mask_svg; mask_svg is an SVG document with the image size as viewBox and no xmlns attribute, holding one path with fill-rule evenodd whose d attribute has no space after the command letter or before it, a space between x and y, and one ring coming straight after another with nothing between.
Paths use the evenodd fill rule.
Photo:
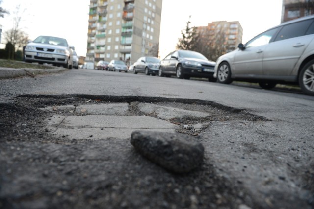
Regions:
<instances>
[{"instance_id":1,"label":"tall apartment tower with colourful balconies, left of centre","mask_svg":"<svg viewBox=\"0 0 314 209\"><path fill-rule=\"evenodd\" d=\"M85 62L133 64L158 52L162 0L90 0Z\"/></svg>"}]
</instances>

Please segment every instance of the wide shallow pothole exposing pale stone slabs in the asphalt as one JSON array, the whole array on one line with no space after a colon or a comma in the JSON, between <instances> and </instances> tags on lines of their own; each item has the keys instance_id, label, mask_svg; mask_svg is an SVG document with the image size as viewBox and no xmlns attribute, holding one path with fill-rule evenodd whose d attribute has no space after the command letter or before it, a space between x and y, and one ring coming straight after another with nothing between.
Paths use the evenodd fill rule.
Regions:
<instances>
[{"instance_id":1,"label":"wide shallow pothole exposing pale stone slabs in the asphalt","mask_svg":"<svg viewBox=\"0 0 314 209\"><path fill-rule=\"evenodd\" d=\"M136 130L197 136L212 121L265 120L202 100L112 96L24 96L48 114L46 130L64 139L130 138ZM124 101L123 101L124 100Z\"/></svg>"}]
</instances>

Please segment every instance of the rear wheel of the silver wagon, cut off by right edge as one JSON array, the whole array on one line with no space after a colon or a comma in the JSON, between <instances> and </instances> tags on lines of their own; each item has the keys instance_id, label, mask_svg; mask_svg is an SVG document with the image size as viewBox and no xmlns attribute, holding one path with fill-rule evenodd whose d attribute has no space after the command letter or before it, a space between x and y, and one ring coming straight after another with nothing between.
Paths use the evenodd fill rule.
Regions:
<instances>
[{"instance_id":1,"label":"rear wheel of the silver wagon, cut off by right edge","mask_svg":"<svg viewBox=\"0 0 314 209\"><path fill-rule=\"evenodd\" d=\"M299 86L304 93L314 96L314 60L309 61L300 71Z\"/></svg>"}]
</instances>

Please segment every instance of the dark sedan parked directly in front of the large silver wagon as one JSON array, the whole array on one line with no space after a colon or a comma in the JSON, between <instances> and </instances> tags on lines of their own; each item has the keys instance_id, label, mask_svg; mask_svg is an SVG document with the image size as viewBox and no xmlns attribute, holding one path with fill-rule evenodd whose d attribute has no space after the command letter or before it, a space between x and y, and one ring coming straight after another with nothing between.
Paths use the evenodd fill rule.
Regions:
<instances>
[{"instance_id":1,"label":"dark sedan parked directly in front of the large silver wagon","mask_svg":"<svg viewBox=\"0 0 314 209\"><path fill-rule=\"evenodd\" d=\"M204 55L196 51L176 50L168 54L160 62L159 76L176 75L177 78L190 79L190 77L213 77L215 62L209 61Z\"/></svg>"}]
</instances>

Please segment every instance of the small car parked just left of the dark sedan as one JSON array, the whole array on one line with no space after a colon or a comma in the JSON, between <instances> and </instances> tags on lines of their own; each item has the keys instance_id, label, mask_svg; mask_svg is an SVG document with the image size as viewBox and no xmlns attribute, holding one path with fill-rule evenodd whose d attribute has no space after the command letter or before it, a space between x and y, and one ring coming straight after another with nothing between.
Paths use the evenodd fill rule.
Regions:
<instances>
[{"instance_id":1,"label":"small car parked just left of the dark sedan","mask_svg":"<svg viewBox=\"0 0 314 209\"><path fill-rule=\"evenodd\" d=\"M145 75L158 74L160 60L157 57L141 57L134 63L133 73L144 72Z\"/></svg>"}]
</instances>

